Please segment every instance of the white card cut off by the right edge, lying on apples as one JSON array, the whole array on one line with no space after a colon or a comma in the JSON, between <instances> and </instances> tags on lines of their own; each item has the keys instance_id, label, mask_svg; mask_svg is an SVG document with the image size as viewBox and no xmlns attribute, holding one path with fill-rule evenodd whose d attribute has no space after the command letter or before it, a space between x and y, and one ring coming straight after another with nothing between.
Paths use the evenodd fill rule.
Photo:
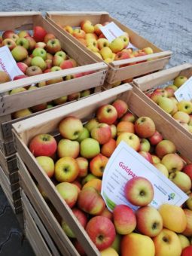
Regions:
<instances>
[{"instance_id":1,"label":"white card cut off by the right edge, lying on apples","mask_svg":"<svg viewBox=\"0 0 192 256\"><path fill-rule=\"evenodd\" d=\"M190 101L192 99L192 76L174 94L178 102L181 102L181 100Z\"/></svg>"}]
</instances>

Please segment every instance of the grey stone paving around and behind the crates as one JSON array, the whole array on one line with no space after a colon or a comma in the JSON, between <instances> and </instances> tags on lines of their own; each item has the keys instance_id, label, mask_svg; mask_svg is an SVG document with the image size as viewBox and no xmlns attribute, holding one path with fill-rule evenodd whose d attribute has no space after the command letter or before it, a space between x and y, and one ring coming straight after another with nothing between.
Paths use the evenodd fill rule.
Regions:
<instances>
[{"instance_id":1,"label":"grey stone paving around and behind the crates","mask_svg":"<svg viewBox=\"0 0 192 256\"><path fill-rule=\"evenodd\" d=\"M121 23L163 50L172 50L168 67L192 62L191 0L1 1L0 11L108 11ZM0 189L0 255L33 255L17 218Z\"/></svg>"}]
</instances>

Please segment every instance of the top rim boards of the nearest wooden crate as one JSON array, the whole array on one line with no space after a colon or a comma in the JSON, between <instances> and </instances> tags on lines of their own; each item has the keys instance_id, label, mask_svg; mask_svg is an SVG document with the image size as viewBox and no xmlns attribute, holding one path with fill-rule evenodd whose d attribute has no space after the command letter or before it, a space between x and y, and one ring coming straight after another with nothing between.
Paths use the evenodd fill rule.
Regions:
<instances>
[{"instance_id":1,"label":"top rim boards of the nearest wooden crate","mask_svg":"<svg viewBox=\"0 0 192 256\"><path fill-rule=\"evenodd\" d=\"M157 130L162 133L163 138L170 139L174 142L178 151L191 160L191 142L188 142L184 134L179 132L169 120L158 115L157 111L151 108L151 106L133 92L133 90L130 90L131 88L130 84L123 84L120 87L99 93L97 96L90 96L87 99L82 99L79 103L74 102L71 105L60 107L49 113L39 114L29 120L23 120L13 124L15 145L21 160L29 169L32 177L41 185L42 189L47 194L47 197L50 199L50 202L56 208L56 211L60 213L61 217L69 224L69 227L72 228L88 255L99 255L99 251L96 250L96 246L90 241L84 229L78 226L74 215L72 215L72 210L69 209L66 202L62 200L62 197L56 191L53 182L47 175L45 175L43 169L41 169L35 160L35 157L29 151L29 141L39 133L53 133L53 131L57 129L60 120L66 116L73 115L81 118L81 120L86 120L88 117L93 116L96 108L100 105L112 102L114 99L119 98L125 100L129 105L130 111L137 116L151 117L156 124ZM31 190L31 193L33 194L34 190L30 187L29 190ZM38 204L41 206L40 202L38 202Z\"/></svg>"}]
</instances>

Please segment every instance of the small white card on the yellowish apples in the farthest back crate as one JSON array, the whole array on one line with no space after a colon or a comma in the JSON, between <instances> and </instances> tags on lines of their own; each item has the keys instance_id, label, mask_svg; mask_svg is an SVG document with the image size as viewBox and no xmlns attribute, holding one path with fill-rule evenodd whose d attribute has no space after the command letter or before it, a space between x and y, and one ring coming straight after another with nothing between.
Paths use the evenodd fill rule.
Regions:
<instances>
[{"instance_id":1,"label":"small white card on the yellowish apples in the farthest back crate","mask_svg":"<svg viewBox=\"0 0 192 256\"><path fill-rule=\"evenodd\" d=\"M100 29L103 35L105 35L105 38L108 39L109 43L125 33L114 22L108 23L107 25L100 27Z\"/></svg>"}]
</instances>

